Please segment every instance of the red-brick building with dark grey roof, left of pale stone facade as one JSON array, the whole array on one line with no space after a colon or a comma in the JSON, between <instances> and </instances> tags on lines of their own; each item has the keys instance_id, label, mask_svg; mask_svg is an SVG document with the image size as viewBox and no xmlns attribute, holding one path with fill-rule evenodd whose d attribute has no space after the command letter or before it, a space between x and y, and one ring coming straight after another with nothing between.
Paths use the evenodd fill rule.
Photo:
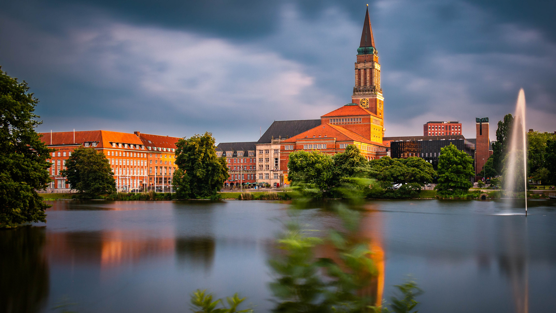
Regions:
<instances>
[{"instance_id":1,"label":"red-brick building with dark grey roof, left of pale stone facade","mask_svg":"<svg viewBox=\"0 0 556 313\"><path fill-rule=\"evenodd\" d=\"M220 143L216 155L226 156L229 178L225 188L242 188L256 183L256 141L242 143Z\"/></svg>"}]
</instances>

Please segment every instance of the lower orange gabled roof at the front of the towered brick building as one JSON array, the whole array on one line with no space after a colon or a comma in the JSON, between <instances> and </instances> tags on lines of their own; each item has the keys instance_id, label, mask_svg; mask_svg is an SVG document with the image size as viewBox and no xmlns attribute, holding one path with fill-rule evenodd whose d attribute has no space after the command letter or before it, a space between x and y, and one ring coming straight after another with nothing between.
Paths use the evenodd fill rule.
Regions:
<instances>
[{"instance_id":1,"label":"lower orange gabled roof at the front of the towered brick building","mask_svg":"<svg viewBox=\"0 0 556 313\"><path fill-rule=\"evenodd\" d=\"M321 135L321 137L319 137ZM307 138L305 138L307 136ZM313 137L315 136L315 137ZM326 137L325 137L326 136ZM304 133L293 136L290 139L282 141L282 143L295 143L300 139L332 139L336 138L336 141L358 141L360 143L373 144L378 146L384 146L376 141L371 141L353 131L343 128L339 125L322 124L313 129L307 130Z\"/></svg>"}]
</instances>

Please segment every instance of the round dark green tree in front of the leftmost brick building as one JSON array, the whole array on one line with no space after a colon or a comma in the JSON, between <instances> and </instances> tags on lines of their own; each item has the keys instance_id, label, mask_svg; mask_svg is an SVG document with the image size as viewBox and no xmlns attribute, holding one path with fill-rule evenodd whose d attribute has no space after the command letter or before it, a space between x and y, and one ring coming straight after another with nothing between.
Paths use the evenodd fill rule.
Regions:
<instances>
[{"instance_id":1,"label":"round dark green tree in front of the leftmost brick building","mask_svg":"<svg viewBox=\"0 0 556 313\"><path fill-rule=\"evenodd\" d=\"M69 187L77 190L83 198L116 192L116 181L108 159L93 148L75 149L61 174L67 177Z\"/></svg>"}]
</instances>

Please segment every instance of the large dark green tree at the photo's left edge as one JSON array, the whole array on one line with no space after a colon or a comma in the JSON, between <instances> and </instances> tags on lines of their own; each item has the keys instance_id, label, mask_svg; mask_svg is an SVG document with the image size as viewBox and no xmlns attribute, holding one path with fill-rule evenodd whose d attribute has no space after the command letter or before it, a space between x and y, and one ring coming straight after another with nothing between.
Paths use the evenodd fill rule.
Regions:
<instances>
[{"instance_id":1,"label":"large dark green tree at the photo's left edge","mask_svg":"<svg viewBox=\"0 0 556 313\"><path fill-rule=\"evenodd\" d=\"M18 82L0 67L0 228L26 222L46 222L49 206L35 191L46 188L52 149L34 130L38 99L28 93L27 82Z\"/></svg>"}]
</instances>

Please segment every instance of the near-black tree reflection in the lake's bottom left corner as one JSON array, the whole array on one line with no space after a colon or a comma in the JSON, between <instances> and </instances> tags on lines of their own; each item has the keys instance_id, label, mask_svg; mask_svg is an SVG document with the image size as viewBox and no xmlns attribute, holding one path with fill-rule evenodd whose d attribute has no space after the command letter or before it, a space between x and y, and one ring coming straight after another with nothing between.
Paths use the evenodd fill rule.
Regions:
<instances>
[{"instance_id":1,"label":"near-black tree reflection in the lake's bottom left corner","mask_svg":"<svg viewBox=\"0 0 556 313\"><path fill-rule=\"evenodd\" d=\"M20 227L0 234L0 312L38 312L49 293L44 227Z\"/></svg>"}]
</instances>

